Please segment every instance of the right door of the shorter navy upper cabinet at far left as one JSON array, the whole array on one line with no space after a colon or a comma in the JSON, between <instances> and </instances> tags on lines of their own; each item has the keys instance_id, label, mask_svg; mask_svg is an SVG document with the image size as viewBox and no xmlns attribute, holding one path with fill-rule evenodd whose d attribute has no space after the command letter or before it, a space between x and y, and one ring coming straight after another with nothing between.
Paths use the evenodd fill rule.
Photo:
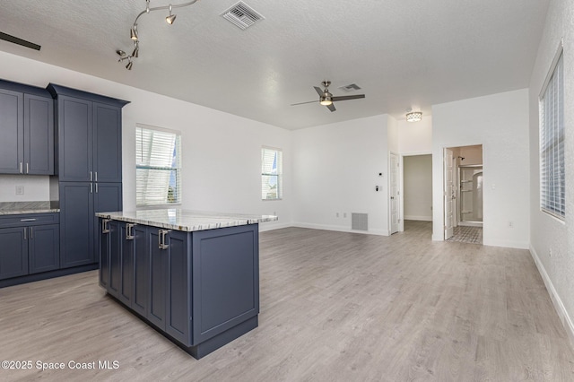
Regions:
<instances>
[{"instance_id":1,"label":"right door of the shorter navy upper cabinet at far left","mask_svg":"<svg viewBox=\"0 0 574 382\"><path fill-rule=\"evenodd\" d=\"M54 101L24 94L24 166L30 175L54 175Z\"/></svg>"}]
</instances>

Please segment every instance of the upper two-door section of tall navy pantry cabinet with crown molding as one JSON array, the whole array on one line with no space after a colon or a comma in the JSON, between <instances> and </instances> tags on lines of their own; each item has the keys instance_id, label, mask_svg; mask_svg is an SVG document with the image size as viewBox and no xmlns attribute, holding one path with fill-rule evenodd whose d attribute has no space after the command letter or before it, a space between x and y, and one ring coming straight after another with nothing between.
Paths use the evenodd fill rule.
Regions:
<instances>
[{"instance_id":1,"label":"upper two-door section of tall navy pantry cabinet with crown molding","mask_svg":"<svg viewBox=\"0 0 574 382\"><path fill-rule=\"evenodd\" d=\"M122 117L128 103L50 83L57 100L60 182L122 181Z\"/></svg>"}]
</instances>

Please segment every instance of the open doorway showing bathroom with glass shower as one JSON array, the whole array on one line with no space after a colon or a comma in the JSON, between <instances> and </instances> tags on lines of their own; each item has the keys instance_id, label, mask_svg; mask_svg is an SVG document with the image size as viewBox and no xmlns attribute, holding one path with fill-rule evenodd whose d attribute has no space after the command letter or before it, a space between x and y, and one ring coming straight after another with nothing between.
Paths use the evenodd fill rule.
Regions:
<instances>
[{"instance_id":1,"label":"open doorway showing bathroom with glass shower","mask_svg":"<svg viewBox=\"0 0 574 382\"><path fill-rule=\"evenodd\" d=\"M483 145L445 149L445 240L483 244Z\"/></svg>"}]
</instances>

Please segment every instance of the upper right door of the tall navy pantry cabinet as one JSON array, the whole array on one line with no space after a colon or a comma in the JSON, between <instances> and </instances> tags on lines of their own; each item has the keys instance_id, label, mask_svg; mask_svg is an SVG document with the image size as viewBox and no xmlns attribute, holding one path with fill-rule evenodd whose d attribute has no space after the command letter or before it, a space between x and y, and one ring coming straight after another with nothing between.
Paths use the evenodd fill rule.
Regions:
<instances>
[{"instance_id":1,"label":"upper right door of the tall navy pantry cabinet","mask_svg":"<svg viewBox=\"0 0 574 382\"><path fill-rule=\"evenodd\" d=\"M98 182L122 181L122 110L93 104L93 171Z\"/></svg>"}]
</instances>

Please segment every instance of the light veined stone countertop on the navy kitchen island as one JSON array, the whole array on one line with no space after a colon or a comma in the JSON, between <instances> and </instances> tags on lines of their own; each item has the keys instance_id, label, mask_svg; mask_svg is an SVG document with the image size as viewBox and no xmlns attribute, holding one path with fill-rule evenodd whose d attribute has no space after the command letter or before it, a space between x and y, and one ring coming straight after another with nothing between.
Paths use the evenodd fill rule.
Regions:
<instances>
[{"instance_id":1,"label":"light veined stone countertop on the navy kitchen island","mask_svg":"<svg viewBox=\"0 0 574 382\"><path fill-rule=\"evenodd\" d=\"M277 221L273 215L248 215L241 213L208 213L204 211L188 211L180 209L140 210L134 212L96 213L96 216L115 221L126 221L136 224L168 230L213 230L217 228L235 227L247 224L257 224L264 221Z\"/></svg>"}]
</instances>

